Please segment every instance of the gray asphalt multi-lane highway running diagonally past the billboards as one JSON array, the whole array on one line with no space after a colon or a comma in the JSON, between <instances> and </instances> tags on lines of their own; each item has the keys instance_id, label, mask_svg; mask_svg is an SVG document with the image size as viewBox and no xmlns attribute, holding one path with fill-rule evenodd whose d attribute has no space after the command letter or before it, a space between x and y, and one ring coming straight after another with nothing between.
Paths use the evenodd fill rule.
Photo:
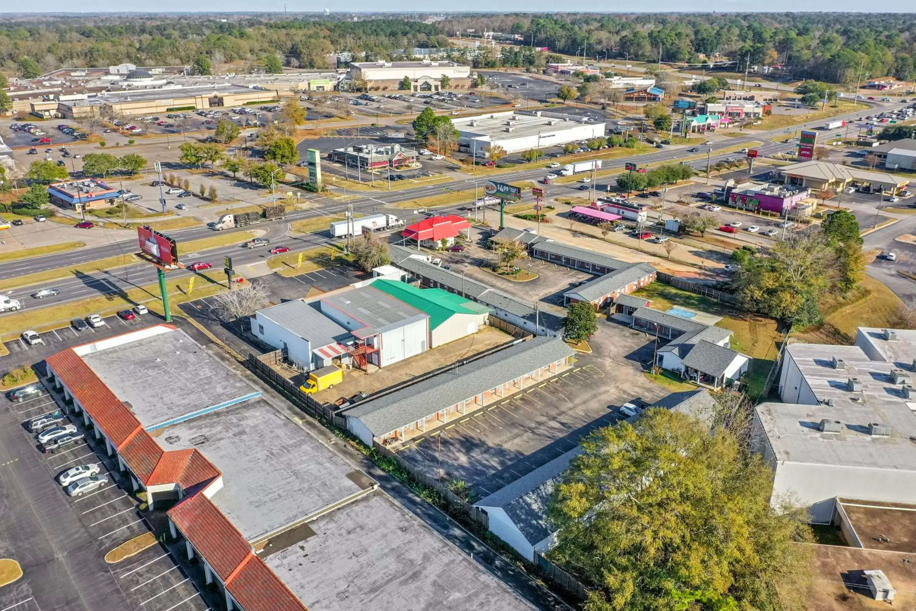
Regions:
<instances>
[{"instance_id":1,"label":"gray asphalt multi-lane highway running diagonally past the billboards","mask_svg":"<svg viewBox=\"0 0 916 611\"><path fill-rule=\"evenodd\" d=\"M850 113L845 116L855 116L860 115L861 111L858 113ZM834 117L843 118L843 117ZM807 124L797 125L793 129L799 129L802 127L813 127L817 125L822 125L824 123L821 121L812 121ZM784 150L787 145L783 143L776 143L768 140L768 137L772 136L781 136L785 134L788 130L778 129L772 130L765 133L756 133L748 134L747 136L737 136L726 142L719 142L712 145L713 154L711 160L714 162L717 159L721 159L728 156L728 153L722 152L725 148L734 150L736 145L746 144L753 141L759 141L761 144L758 146L761 157L766 155L773 154L780 150ZM732 153L734 155L734 153ZM637 162L639 164L647 163L658 163L664 161L675 161L681 160L683 158L693 158L692 164L695 166L702 166L705 163L705 155L696 155L688 154L685 151L685 147L666 147L660 149L657 152L649 153L646 155L640 155L637 157L631 158L620 158L620 159L611 159L605 161L605 169L617 169L623 168L624 164L627 162ZM537 180L540 179L545 173L543 168L537 169L522 169L515 172L510 172L506 174L499 175L499 180ZM230 255L233 256L234 266L241 267L252 263L262 262L266 260L269 254L267 253L268 248L276 245L287 245L293 250L303 250L306 248L312 248L319 245L327 245L333 242L333 239L326 234L326 232L319 232L311 235L299 235L297 237L289 236L289 222L301 219L308 219L315 216L323 216L333 213L340 213L344 211L347 205L353 205L354 211L358 213L369 213L375 209L387 206L389 204L394 204L398 202L406 202L409 200L414 200L430 195L436 195L442 193L443 189L448 190L452 189L454 191L464 191L469 190L472 193L474 192L475 183L483 189L484 177L474 178L469 176L460 180L453 180L449 183L438 183L432 186L418 187L411 190L403 191L383 191L379 193L373 193L371 195L362 195L357 199L348 202L341 203L336 202L330 198L322 198L319 202L322 204L318 208L313 208L310 210L295 211L289 213L287 218L284 220L277 220L266 222L264 224L258 224L254 227L257 229L263 229L267 231L267 237L270 238L270 245L267 247L258 247L254 249L247 249L241 247L242 239L240 238L239 244L237 245L228 245L219 248L213 248L206 251L205 254L197 255L195 253L188 253L182 255L182 258L185 262L191 262L194 260L208 260L213 262L213 267L221 267L223 256ZM563 185L557 185L556 188L569 188ZM483 193L483 191L480 191ZM468 198L470 200L470 198ZM453 206L451 209L437 209L437 212L450 212L456 206ZM408 214L409 215L409 214ZM238 232L244 230L230 230ZM194 229L184 229L174 232L169 232L169 235L172 235L180 242L187 242L190 240L208 237L213 235L213 230L209 228L194 228ZM64 254L55 254L48 256L38 256L32 257L29 259L14 261L11 263L5 264L0 268L0 278L16 278L20 276L25 276L30 273L35 273L38 271L44 271L48 269L55 269L59 267L71 267L74 264L95 261L103 259L109 256L115 256L119 254L136 252L136 238L125 239L122 241L114 242L109 245L99 245L92 246L87 248L82 248L72 252ZM180 278L182 276L191 275L191 271L180 270L173 272L170 276L172 278ZM97 272L93 274L84 274L80 277L68 278L65 280L57 282L49 282L41 286L30 286L27 289L18 289L14 290L10 296L23 300L27 308L36 308L44 307L55 303L67 302L71 300L80 300L84 299L87 296L93 294L116 294L125 289L131 289L138 286L149 285L156 281L155 269L146 264L137 264L129 267L120 267L107 272ZM60 289L60 294L53 297L48 297L43 300L33 300L30 299L29 295L37 289L53 287L55 289Z\"/></svg>"}]
</instances>

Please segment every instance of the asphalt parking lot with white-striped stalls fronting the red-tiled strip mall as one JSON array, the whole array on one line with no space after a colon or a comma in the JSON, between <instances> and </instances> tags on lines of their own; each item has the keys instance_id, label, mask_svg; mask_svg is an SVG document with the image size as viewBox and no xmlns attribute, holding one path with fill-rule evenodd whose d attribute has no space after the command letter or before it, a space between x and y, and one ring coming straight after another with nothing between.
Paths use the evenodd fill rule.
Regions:
<instances>
[{"instance_id":1,"label":"asphalt parking lot with white-striped stalls fronting the red-tiled strip mall","mask_svg":"<svg viewBox=\"0 0 916 611\"><path fill-rule=\"evenodd\" d=\"M23 577L0 591L4 611L137 609L191 611L208 606L159 544L115 564L114 547L148 532L126 478L113 472L104 442L42 453L27 422L59 409L47 392L22 402L0 398L0 487L5 494L0 557L20 563ZM85 434L82 420L71 422ZM108 484L68 496L56 481L80 464L98 464Z\"/></svg>"}]
</instances>

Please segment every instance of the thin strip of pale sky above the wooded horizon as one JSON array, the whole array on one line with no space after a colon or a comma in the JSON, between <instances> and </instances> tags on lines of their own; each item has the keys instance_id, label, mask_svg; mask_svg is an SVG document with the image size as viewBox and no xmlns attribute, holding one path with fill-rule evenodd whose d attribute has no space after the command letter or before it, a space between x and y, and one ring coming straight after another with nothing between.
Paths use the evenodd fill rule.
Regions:
<instances>
[{"instance_id":1,"label":"thin strip of pale sky above the wooded horizon","mask_svg":"<svg viewBox=\"0 0 916 611\"><path fill-rule=\"evenodd\" d=\"M572 0L568 2L557 2L556 0L501 0L494 3L492 0L464 0L461 3L453 1L444 2L442 0L402 0L397 3L399 12L406 11L454 11L459 8L463 11L493 11L498 5L500 12L549 12L549 11L602 11L602 12L636 12L639 6L634 6L633 2L623 0ZM5 6L4 6L5 5ZM28 11L28 7L21 4L9 4L0 2L4 8L14 9L16 11ZM293 11L311 11L320 12L325 7L332 11L339 9L341 5L334 4L325 0L325 4L319 3L302 3L287 0L286 7L290 12ZM798 11L802 9L806 12L871 12L876 8L882 13L913 13L916 12L916 2L913 0L884 0L879 5L872 5L862 0L808 0L806 3L800 3L798 0L769 0L760 2L759 0L720 0L719 2L709 3L707 0L656 0L650 5L641 6L645 11L653 13L660 12L711 12L714 8L718 12L768 12L780 13L784 11ZM250 0L197 0L189 3L187 0L159 0L154 5L143 5L136 2L125 3L123 0L45 0L40 3L40 12L47 13L80 13L80 12L115 12L115 11L143 11L155 10L157 12L226 12L226 11L277 11L282 12L284 8L283 0L260 0L251 2ZM349 0L346 3L348 11L377 11L379 4L370 0ZM3 9L0 9L3 10ZM37 12L37 11L35 11Z\"/></svg>"}]
</instances>

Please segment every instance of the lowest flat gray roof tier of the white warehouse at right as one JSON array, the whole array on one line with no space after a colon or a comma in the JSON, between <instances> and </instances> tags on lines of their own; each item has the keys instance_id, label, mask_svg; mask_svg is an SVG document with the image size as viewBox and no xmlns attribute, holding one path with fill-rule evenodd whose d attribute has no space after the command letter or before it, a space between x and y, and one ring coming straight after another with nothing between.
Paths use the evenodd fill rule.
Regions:
<instances>
[{"instance_id":1,"label":"lowest flat gray roof tier of the white warehouse at right","mask_svg":"<svg viewBox=\"0 0 916 611\"><path fill-rule=\"evenodd\" d=\"M910 441L916 436L916 416L905 403L762 403L757 414L779 461L916 470L916 443ZM840 420L841 431L819 431L823 419ZM869 422L887 423L892 431L888 437L870 435Z\"/></svg>"}]
</instances>

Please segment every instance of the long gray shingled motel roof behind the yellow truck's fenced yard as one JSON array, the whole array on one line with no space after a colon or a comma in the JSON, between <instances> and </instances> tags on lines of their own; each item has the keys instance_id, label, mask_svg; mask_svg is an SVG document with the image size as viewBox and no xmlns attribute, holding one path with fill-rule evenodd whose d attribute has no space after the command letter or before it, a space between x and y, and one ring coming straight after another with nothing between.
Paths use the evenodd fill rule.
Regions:
<instances>
[{"instance_id":1,"label":"long gray shingled motel roof behind the yellow truck's fenced yard","mask_svg":"<svg viewBox=\"0 0 916 611\"><path fill-rule=\"evenodd\" d=\"M536 337L343 413L358 418L377 437L572 355L573 349L561 339Z\"/></svg>"}]
</instances>

